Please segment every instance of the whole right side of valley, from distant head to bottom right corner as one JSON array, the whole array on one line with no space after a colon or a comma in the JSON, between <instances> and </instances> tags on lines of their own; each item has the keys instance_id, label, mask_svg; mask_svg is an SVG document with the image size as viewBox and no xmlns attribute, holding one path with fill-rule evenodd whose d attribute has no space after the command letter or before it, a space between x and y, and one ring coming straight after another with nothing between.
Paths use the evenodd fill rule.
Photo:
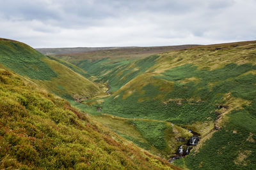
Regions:
<instances>
[{"instance_id":1,"label":"whole right side of valley, from distant head to bottom right corner","mask_svg":"<svg viewBox=\"0 0 256 170\"><path fill-rule=\"evenodd\" d=\"M255 41L196 46L150 57L68 60L112 88L113 94L77 106L121 136L168 158L177 151L179 138L192 135L184 132L186 127L201 139L175 165L255 167ZM122 126L129 128L125 131Z\"/></svg>"}]
</instances>

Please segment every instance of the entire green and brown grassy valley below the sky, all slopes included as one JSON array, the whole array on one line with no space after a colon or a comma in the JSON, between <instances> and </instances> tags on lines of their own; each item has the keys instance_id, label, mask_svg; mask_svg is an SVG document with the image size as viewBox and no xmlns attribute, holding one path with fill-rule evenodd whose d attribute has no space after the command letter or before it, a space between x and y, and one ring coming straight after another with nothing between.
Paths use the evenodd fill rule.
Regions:
<instances>
[{"instance_id":1,"label":"entire green and brown grassy valley below the sky, all slopes included","mask_svg":"<svg viewBox=\"0 0 256 170\"><path fill-rule=\"evenodd\" d=\"M253 169L256 165L256 41L52 56L8 39L1 39L0 45L1 145L7 148L2 160L15 159L13 164L1 163L3 167ZM30 135L24 124L35 128L36 134ZM11 132L13 139L8 137ZM189 155L170 166L165 160L194 134L200 138L198 145L190 146ZM21 144L11 142L17 136ZM32 139L39 143L45 139L47 152L38 150L41 145L35 146ZM26 151L19 155L12 147L38 156L22 159ZM56 157L51 159L50 153Z\"/></svg>"}]
</instances>

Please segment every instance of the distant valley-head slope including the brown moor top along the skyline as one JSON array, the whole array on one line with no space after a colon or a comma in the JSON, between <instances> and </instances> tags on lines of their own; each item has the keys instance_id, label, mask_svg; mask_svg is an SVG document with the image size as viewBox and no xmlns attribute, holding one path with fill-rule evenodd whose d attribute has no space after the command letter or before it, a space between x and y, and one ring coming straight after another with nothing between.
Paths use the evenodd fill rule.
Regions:
<instances>
[{"instance_id":1,"label":"distant valley-head slope including the brown moor top along the skyline","mask_svg":"<svg viewBox=\"0 0 256 170\"><path fill-rule=\"evenodd\" d=\"M110 91L115 92L132 78L144 73L145 68L152 66L157 53L189 46L195 45L126 47L95 52L64 53L54 57L76 64L92 75L94 81L108 82ZM152 55L150 59L140 60L150 55Z\"/></svg>"}]
</instances>

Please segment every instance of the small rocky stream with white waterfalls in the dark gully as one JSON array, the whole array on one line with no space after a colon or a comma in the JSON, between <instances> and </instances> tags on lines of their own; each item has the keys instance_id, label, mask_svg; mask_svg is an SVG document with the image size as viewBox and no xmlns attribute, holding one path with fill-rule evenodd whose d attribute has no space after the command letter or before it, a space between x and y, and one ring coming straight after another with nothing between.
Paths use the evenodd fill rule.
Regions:
<instances>
[{"instance_id":1,"label":"small rocky stream with white waterfalls in the dark gully","mask_svg":"<svg viewBox=\"0 0 256 170\"><path fill-rule=\"evenodd\" d=\"M187 143L184 143L179 146L175 155L170 157L168 162L173 163L174 160L176 160L176 159L184 158L186 155L189 154L189 152L193 148L193 146L196 146L198 144L198 141L200 140L198 138L199 134L191 131L190 129L188 129L188 131L191 132L193 134L193 136L187 141Z\"/></svg>"}]
</instances>

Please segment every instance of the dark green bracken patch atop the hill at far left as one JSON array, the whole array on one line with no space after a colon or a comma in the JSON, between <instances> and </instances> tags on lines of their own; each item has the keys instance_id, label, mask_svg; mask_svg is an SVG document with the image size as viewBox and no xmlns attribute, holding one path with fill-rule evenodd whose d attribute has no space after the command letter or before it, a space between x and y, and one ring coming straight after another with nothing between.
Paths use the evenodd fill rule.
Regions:
<instances>
[{"instance_id":1,"label":"dark green bracken patch atop the hill at far left","mask_svg":"<svg viewBox=\"0 0 256 170\"><path fill-rule=\"evenodd\" d=\"M0 39L0 62L22 76L51 80L58 74L42 59L44 55L23 43Z\"/></svg>"}]
</instances>

